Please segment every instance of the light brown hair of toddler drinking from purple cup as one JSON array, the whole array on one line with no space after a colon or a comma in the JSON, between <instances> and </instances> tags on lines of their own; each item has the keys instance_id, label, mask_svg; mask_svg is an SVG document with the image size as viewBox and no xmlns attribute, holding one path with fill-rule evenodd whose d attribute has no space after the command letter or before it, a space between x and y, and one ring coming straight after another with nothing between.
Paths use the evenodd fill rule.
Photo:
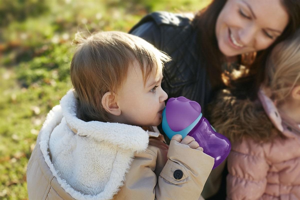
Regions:
<instances>
[{"instance_id":1,"label":"light brown hair of toddler drinking from purple cup","mask_svg":"<svg viewBox=\"0 0 300 200\"><path fill-rule=\"evenodd\" d=\"M142 38L118 31L77 35L75 42L70 76L78 99L77 117L84 121L110 121L101 99L106 92L118 91L134 60L140 64L144 85L170 60Z\"/></svg>"}]
</instances>

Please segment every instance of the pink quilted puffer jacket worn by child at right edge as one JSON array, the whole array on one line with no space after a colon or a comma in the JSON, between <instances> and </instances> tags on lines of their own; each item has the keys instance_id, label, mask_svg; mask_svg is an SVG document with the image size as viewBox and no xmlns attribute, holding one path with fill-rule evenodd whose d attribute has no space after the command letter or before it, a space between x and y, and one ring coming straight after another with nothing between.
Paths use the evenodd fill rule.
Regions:
<instances>
[{"instance_id":1,"label":"pink quilted puffer jacket worn by child at right edge","mask_svg":"<svg viewBox=\"0 0 300 200\"><path fill-rule=\"evenodd\" d=\"M283 136L255 142L247 135L232 143L227 164L227 199L300 199L300 128L278 112L262 91L258 96L274 124L271 130L265 131L280 131ZM257 126L265 123L270 122L261 121Z\"/></svg>"}]
</instances>

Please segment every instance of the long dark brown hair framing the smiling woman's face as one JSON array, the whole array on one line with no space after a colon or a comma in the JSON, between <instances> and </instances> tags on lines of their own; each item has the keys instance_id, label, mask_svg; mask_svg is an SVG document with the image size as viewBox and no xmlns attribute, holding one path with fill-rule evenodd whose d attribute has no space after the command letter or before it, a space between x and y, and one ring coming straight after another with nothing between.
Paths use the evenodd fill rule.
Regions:
<instances>
[{"instance_id":1,"label":"long dark brown hair framing the smiling woman's face","mask_svg":"<svg viewBox=\"0 0 300 200\"><path fill-rule=\"evenodd\" d=\"M213 0L203 10L200 10L194 20L193 25L198 30L198 42L201 46L200 53L205 55L205 66L210 77L210 82L213 88L219 88L224 85L221 78L223 70L222 64L226 61L225 56L220 52L217 38L215 35L215 25L217 17L223 9L227 0ZM276 41L267 49L257 52L256 59L249 66L248 76L242 77L232 82L231 85L253 85L256 87L249 87L252 91L248 95L255 97L258 86L263 80L265 63L271 49L280 41L293 34L298 27L300 27L300 1L299 0L281 0L283 7L289 15L289 23L283 33L276 39ZM240 57L241 60L241 57ZM242 63L242 60L240 61Z\"/></svg>"}]
</instances>

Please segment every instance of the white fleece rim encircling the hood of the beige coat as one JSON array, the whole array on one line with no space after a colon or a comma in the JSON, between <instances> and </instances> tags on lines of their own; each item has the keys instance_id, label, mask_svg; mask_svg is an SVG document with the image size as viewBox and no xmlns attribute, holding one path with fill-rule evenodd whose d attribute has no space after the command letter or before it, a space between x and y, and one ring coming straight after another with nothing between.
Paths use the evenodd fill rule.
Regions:
<instances>
[{"instance_id":1,"label":"white fleece rim encircling the hood of the beige coat","mask_svg":"<svg viewBox=\"0 0 300 200\"><path fill-rule=\"evenodd\" d=\"M143 130L141 127L131 126L119 123L105 123L99 121L85 122L76 117L76 98L73 91L70 90L61 99L60 105L55 106L47 115L46 121L41 128L40 148L52 175L57 179L60 186L75 199L82 200L105 200L111 199L117 193L119 187L125 178L125 173L130 167L130 163L134 152L143 151L148 147L149 136L158 136L158 133L152 133ZM112 145L118 145L120 152L125 149L125 152L131 152L128 156L118 157L118 162L121 168L112 173L113 177L105 187L105 190L97 195L85 195L74 190L66 180L60 177L60 173L56 171L49 156L49 139L50 135L55 130L61 121L65 118L68 127L73 130L73 133L79 136L90 137L94 141L105 141ZM150 134L149 134L150 133ZM126 150L127 149L127 150Z\"/></svg>"}]
</instances>

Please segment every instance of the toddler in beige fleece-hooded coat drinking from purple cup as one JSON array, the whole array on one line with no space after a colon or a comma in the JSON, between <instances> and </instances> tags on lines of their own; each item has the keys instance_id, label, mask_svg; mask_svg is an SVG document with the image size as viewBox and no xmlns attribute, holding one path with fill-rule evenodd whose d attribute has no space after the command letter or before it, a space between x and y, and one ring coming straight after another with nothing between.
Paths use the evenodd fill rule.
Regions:
<instances>
[{"instance_id":1,"label":"toddler in beige fleece-hooded coat drinking from purple cup","mask_svg":"<svg viewBox=\"0 0 300 200\"><path fill-rule=\"evenodd\" d=\"M122 32L79 38L74 89L47 115L27 168L29 199L199 199L214 158L154 132L169 57Z\"/></svg>"}]
</instances>

